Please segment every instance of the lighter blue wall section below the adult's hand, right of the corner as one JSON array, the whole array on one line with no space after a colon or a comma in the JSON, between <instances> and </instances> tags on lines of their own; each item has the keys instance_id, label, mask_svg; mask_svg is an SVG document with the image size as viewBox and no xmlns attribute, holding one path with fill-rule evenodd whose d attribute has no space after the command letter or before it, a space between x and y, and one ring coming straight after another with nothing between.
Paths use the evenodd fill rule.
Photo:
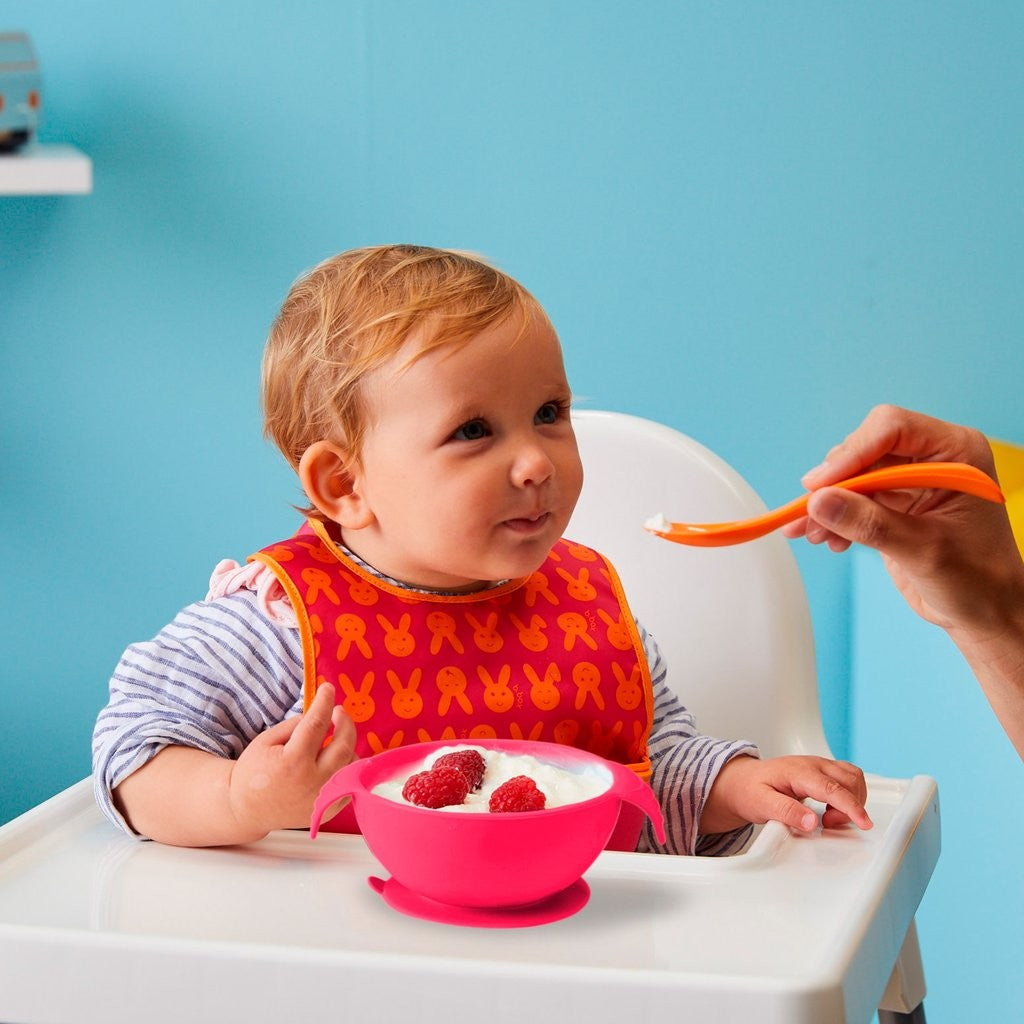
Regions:
<instances>
[{"instance_id":1,"label":"lighter blue wall section below the adult's hand, right of the corner","mask_svg":"<svg viewBox=\"0 0 1024 1024\"><path fill-rule=\"evenodd\" d=\"M928 1020L1012 1020L1024 919L1020 758L949 638L910 611L874 552L852 560L853 757L939 783L942 853L918 912Z\"/></svg>"}]
</instances>

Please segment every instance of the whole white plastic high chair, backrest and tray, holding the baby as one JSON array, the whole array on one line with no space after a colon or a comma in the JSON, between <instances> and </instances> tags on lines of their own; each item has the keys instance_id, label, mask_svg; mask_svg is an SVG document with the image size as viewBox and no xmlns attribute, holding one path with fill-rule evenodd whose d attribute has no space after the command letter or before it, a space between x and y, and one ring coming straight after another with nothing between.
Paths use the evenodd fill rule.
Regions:
<instances>
[{"instance_id":1,"label":"whole white plastic high chair, backrest and tray, holding the baby","mask_svg":"<svg viewBox=\"0 0 1024 1024\"><path fill-rule=\"evenodd\" d=\"M575 423L587 480L569 536L615 562L702 731L826 755L785 542L688 549L642 529L658 511L735 519L763 504L675 431ZM868 810L870 831L769 823L729 858L604 852L578 914L488 930L391 910L361 837L139 843L85 779L0 828L0 1021L867 1024L879 1006L884 1022L923 1021L912 922L938 856L935 783L869 777Z\"/></svg>"}]
</instances>

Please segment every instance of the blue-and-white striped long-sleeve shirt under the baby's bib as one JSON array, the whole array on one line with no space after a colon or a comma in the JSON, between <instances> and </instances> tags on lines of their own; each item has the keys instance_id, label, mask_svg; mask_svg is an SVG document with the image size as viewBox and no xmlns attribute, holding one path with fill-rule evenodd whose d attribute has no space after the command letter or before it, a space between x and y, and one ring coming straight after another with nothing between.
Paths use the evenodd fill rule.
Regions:
<instances>
[{"instance_id":1,"label":"blue-and-white striped long-sleeve shirt under the baby's bib","mask_svg":"<svg viewBox=\"0 0 1024 1024\"><path fill-rule=\"evenodd\" d=\"M640 636L654 694L651 785L667 842L659 845L648 823L638 849L738 852L751 829L700 836L700 811L723 765L738 755L757 756L757 749L700 735L667 684L653 638L642 627ZM123 779L168 745L237 758L260 732L302 713L302 678L298 629L268 615L256 593L240 590L183 608L153 640L132 644L111 679L92 740L100 809L130 834L111 796Z\"/></svg>"}]
</instances>

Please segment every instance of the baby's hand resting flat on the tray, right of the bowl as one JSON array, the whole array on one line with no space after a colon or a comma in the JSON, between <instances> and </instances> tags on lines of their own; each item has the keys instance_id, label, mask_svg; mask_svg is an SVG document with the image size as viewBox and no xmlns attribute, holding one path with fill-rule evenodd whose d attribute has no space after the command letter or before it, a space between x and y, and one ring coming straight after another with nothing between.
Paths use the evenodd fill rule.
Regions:
<instances>
[{"instance_id":1,"label":"baby's hand resting flat on the tray, right of the bowl","mask_svg":"<svg viewBox=\"0 0 1024 1024\"><path fill-rule=\"evenodd\" d=\"M792 755L782 758L733 758L718 774L700 816L700 831L730 831L748 822L781 821L811 833L818 816L801 801L825 805L821 824L836 828L852 821L858 828L873 824L864 810L864 773L848 761Z\"/></svg>"}]
</instances>

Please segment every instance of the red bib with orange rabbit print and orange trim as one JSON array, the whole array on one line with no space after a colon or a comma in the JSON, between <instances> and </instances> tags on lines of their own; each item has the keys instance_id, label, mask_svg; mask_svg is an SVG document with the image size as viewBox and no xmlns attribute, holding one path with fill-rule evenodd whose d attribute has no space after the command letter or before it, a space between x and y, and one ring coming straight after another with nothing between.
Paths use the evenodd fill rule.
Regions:
<instances>
[{"instance_id":1,"label":"red bib with orange rabbit print and orange trim","mask_svg":"<svg viewBox=\"0 0 1024 1024\"><path fill-rule=\"evenodd\" d=\"M650 775L650 673L611 564L561 540L531 575L421 594L366 571L309 520L252 556L295 608L304 703L335 684L356 753L486 737L580 746Z\"/></svg>"}]
</instances>

